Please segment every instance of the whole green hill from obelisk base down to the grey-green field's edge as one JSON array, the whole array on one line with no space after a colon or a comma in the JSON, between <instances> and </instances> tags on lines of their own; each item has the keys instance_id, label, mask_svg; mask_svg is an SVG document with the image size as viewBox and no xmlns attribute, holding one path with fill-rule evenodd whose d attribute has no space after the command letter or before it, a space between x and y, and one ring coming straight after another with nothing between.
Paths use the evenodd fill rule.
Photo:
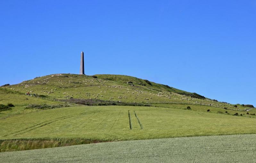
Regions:
<instances>
[{"instance_id":1,"label":"whole green hill from obelisk base down to the grey-green field's edge","mask_svg":"<svg viewBox=\"0 0 256 163\"><path fill-rule=\"evenodd\" d=\"M0 104L8 103L15 107L0 110L1 151L256 133L253 108L123 75L36 77L0 87Z\"/></svg>"}]
</instances>

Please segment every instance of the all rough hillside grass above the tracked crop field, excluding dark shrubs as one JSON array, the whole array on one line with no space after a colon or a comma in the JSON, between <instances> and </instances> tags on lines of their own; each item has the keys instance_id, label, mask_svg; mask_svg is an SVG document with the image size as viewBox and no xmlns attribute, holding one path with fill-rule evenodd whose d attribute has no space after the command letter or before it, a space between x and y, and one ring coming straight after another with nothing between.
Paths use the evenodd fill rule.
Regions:
<instances>
[{"instance_id":1,"label":"all rough hillside grass above the tracked crop field, excluding dark shrubs","mask_svg":"<svg viewBox=\"0 0 256 163\"><path fill-rule=\"evenodd\" d=\"M63 100L70 97L82 99L100 99L121 102L137 103L180 103L188 105L204 104L223 109L227 107L230 110L248 109L238 105L235 108L232 104L211 101L210 99L197 99L190 96L183 96L178 93L186 91L167 87L161 84L151 82L147 84L145 80L124 76L124 75L96 75L95 79L91 76L62 74L59 76L48 75L38 77L33 80L24 81L17 85L0 87L0 104L13 103L16 107L9 111L0 113L0 119L17 114L26 114L38 110L24 110L29 104L63 104ZM133 86L127 82L133 82ZM141 85L143 84L143 85ZM31 94L44 95L46 98L35 98L25 95ZM119 98L122 97L122 98ZM55 99L55 101L54 101ZM148 99L148 100L145 100ZM162 104L156 106L163 106ZM164 106L169 107L169 106ZM207 106L205 106L206 108ZM192 107L193 108L193 107ZM221 110L225 112L226 110ZM238 110L239 111L239 110ZM243 112L244 114L246 112ZM254 111L256 113L256 111ZM239 114L241 114L239 112ZM253 116L252 116L253 117Z\"/></svg>"}]
</instances>

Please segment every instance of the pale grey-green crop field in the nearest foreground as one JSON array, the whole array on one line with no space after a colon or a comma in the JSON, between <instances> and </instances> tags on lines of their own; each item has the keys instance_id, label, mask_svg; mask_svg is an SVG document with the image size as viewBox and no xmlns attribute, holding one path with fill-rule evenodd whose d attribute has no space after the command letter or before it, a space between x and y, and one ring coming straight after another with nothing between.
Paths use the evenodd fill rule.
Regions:
<instances>
[{"instance_id":1,"label":"pale grey-green crop field in the nearest foreground","mask_svg":"<svg viewBox=\"0 0 256 163\"><path fill-rule=\"evenodd\" d=\"M2 162L254 162L255 134L96 143L0 153Z\"/></svg>"}]
</instances>

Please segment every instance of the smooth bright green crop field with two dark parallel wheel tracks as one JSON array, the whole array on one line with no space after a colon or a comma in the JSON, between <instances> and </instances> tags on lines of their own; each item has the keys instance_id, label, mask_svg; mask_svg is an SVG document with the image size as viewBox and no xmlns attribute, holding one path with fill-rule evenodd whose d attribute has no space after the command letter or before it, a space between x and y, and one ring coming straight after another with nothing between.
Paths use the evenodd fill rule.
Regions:
<instances>
[{"instance_id":1,"label":"smooth bright green crop field with two dark parallel wheel tracks","mask_svg":"<svg viewBox=\"0 0 256 163\"><path fill-rule=\"evenodd\" d=\"M1 140L66 138L104 142L256 133L256 118L133 106L58 108L1 119L0 123Z\"/></svg>"}]
</instances>

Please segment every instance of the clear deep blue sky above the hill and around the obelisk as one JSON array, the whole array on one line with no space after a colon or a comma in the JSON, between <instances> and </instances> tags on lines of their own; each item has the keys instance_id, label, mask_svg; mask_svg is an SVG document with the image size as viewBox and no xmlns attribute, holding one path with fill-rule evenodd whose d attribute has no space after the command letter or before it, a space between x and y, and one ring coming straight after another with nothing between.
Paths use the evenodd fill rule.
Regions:
<instances>
[{"instance_id":1,"label":"clear deep blue sky above the hill and around the obelisk","mask_svg":"<svg viewBox=\"0 0 256 163\"><path fill-rule=\"evenodd\" d=\"M0 1L0 85L122 74L256 106L256 0Z\"/></svg>"}]
</instances>

